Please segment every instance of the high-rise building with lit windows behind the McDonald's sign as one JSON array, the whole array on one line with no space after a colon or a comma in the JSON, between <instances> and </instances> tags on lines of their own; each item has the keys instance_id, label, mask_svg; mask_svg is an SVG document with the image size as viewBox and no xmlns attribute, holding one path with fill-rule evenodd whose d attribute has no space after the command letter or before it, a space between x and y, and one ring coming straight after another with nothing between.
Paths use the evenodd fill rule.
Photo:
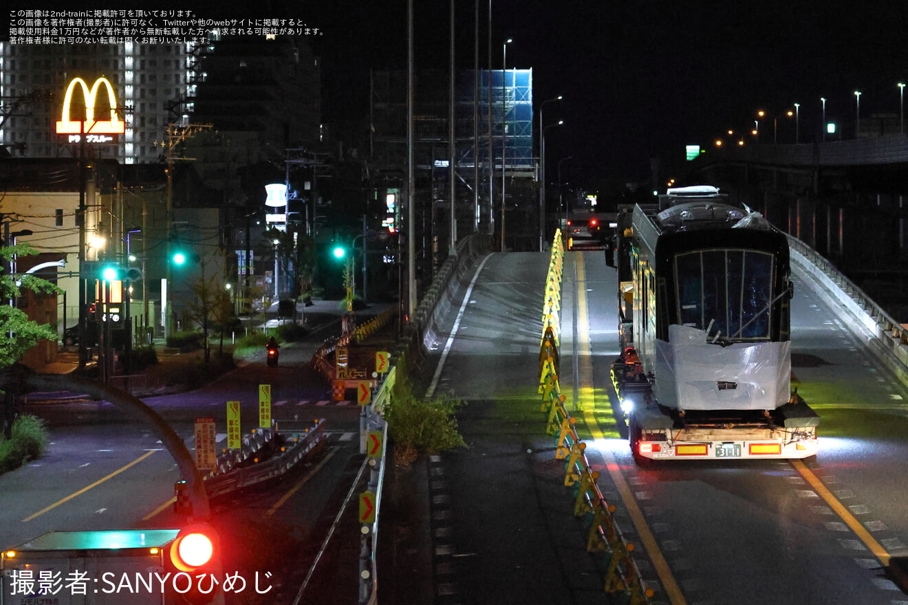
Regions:
<instances>
[{"instance_id":1,"label":"high-rise building with lit windows behind the McDonald's sign","mask_svg":"<svg viewBox=\"0 0 908 605\"><path fill-rule=\"evenodd\" d=\"M158 161L169 122L188 119L186 98L194 94L192 44L10 44L0 42L0 101L5 121L0 144L13 157L55 158L76 153L56 133L67 86L80 77L91 86L99 77L114 88L125 132L94 146L100 157L123 163ZM99 91L104 107L106 94ZM84 100L73 95L71 117L80 120ZM102 110L104 111L104 110Z\"/></svg>"}]
</instances>

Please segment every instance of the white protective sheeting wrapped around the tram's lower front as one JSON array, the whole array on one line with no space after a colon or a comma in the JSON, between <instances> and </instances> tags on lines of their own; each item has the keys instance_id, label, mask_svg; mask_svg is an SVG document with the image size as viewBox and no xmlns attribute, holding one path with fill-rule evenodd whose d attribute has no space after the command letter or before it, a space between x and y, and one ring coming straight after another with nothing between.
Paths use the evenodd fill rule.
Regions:
<instances>
[{"instance_id":1,"label":"white protective sheeting wrapped around the tram's lower front","mask_svg":"<svg viewBox=\"0 0 908 605\"><path fill-rule=\"evenodd\" d=\"M706 342L704 330L677 325L668 327L668 338L656 340L653 393L660 405L774 410L791 397L791 342L719 346Z\"/></svg>"}]
</instances>

